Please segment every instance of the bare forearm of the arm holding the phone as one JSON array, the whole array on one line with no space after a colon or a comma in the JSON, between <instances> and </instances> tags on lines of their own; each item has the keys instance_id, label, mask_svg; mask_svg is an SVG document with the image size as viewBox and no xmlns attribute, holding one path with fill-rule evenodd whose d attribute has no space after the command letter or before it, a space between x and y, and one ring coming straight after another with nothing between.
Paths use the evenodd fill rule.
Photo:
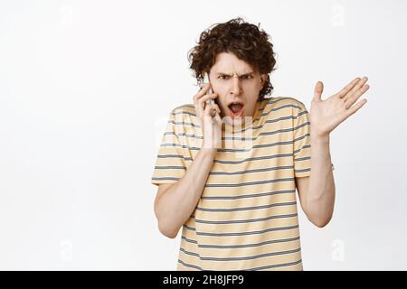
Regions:
<instances>
[{"instance_id":1,"label":"bare forearm of the arm holding the phone","mask_svg":"<svg viewBox=\"0 0 407 289\"><path fill-rule=\"evenodd\" d=\"M211 149L201 149L184 176L158 200L159 227L168 232L168 237L175 238L179 228L193 213L213 166L214 154Z\"/></svg>"}]
</instances>

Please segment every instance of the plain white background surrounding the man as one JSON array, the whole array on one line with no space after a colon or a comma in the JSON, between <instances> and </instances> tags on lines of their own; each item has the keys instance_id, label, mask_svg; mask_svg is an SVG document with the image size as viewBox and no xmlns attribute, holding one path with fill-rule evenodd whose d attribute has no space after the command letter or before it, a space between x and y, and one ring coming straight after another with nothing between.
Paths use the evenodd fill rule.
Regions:
<instances>
[{"instance_id":1,"label":"plain white background surrounding the man","mask_svg":"<svg viewBox=\"0 0 407 289\"><path fill-rule=\"evenodd\" d=\"M241 16L271 36L273 96L308 109L368 76L331 135L336 210L300 211L305 270L407 269L407 2L1 1L0 269L174 270L150 182L169 112L197 91L187 52Z\"/></svg>"}]
</instances>

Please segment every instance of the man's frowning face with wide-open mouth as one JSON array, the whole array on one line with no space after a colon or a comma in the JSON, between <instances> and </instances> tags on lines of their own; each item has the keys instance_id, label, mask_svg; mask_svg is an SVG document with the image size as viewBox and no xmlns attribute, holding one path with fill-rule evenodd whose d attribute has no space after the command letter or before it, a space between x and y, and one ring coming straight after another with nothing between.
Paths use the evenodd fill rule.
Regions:
<instances>
[{"instance_id":1,"label":"man's frowning face with wide-open mouth","mask_svg":"<svg viewBox=\"0 0 407 289\"><path fill-rule=\"evenodd\" d=\"M267 74L253 70L250 64L241 61L231 52L219 53L209 72L213 92L221 117L244 122L244 117L253 117L259 92ZM241 117L241 118L240 118Z\"/></svg>"}]
</instances>

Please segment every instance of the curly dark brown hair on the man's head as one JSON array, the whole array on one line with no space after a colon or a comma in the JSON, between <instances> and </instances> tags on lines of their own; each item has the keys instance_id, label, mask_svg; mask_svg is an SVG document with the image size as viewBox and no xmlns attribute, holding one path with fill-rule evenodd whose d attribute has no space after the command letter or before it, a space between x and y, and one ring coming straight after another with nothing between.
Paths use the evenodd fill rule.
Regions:
<instances>
[{"instance_id":1,"label":"curly dark brown hair on the man's head","mask_svg":"<svg viewBox=\"0 0 407 289\"><path fill-rule=\"evenodd\" d=\"M273 87L269 73L275 70L276 59L269 37L268 33L260 30L260 23L258 26L246 23L241 17L213 24L201 33L197 45L188 51L187 58L197 84L202 85L204 73L211 70L219 53L232 52L260 74L268 74L259 98L270 95Z\"/></svg>"}]
</instances>

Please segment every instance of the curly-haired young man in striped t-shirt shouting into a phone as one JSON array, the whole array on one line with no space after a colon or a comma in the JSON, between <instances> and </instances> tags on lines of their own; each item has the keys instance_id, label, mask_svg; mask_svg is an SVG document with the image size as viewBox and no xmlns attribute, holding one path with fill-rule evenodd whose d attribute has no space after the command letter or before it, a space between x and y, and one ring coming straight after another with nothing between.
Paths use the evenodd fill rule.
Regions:
<instances>
[{"instance_id":1,"label":"curly-haired young man in striped t-shirt shouting into a phone","mask_svg":"<svg viewBox=\"0 0 407 289\"><path fill-rule=\"evenodd\" d=\"M237 18L190 53L210 84L171 112L152 177L159 230L183 228L177 270L302 270L296 189L313 224L332 218L329 134L364 105L367 79L326 100L318 81L309 115L295 98L264 98L276 63L268 39Z\"/></svg>"}]
</instances>

